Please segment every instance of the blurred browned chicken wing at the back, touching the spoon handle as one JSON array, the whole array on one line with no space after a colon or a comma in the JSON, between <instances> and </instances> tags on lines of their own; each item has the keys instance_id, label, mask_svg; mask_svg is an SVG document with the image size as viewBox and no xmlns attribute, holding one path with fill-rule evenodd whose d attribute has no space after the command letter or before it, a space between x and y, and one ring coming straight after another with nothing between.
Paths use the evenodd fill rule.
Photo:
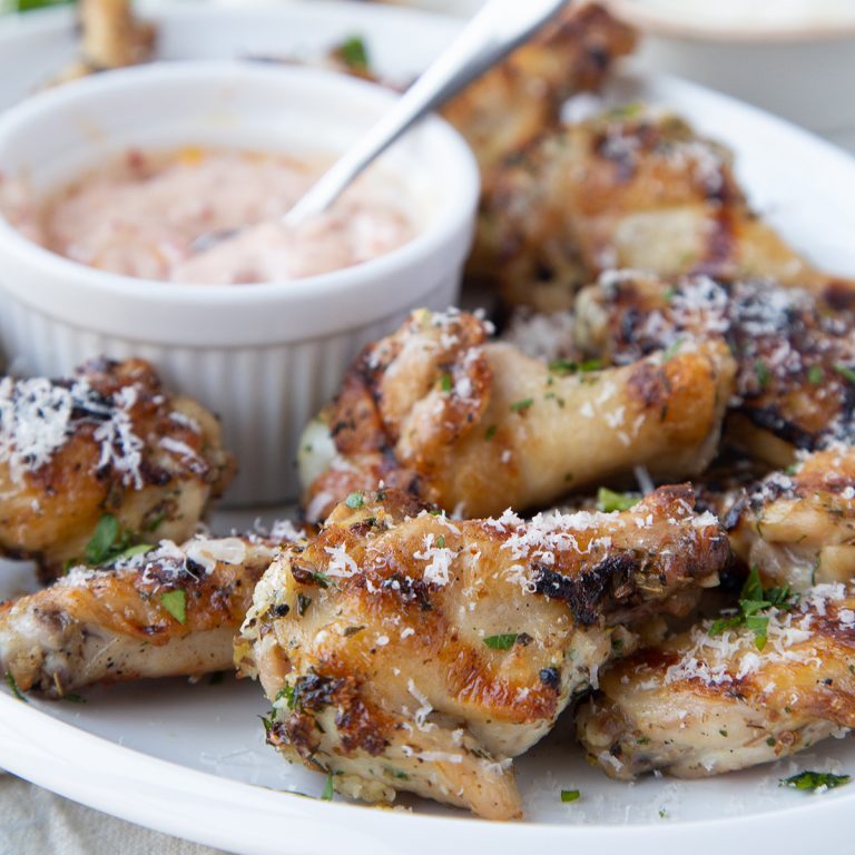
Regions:
<instances>
[{"instance_id":1,"label":"blurred browned chicken wing at the back, touching the spoon handle","mask_svg":"<svg viewBox=\"0 0 855 855\"><path fill-rule=\"evenodd\" d=\"M442 115L472 146L484 189L508 155L559 127L564 101L597 89L635 45L635 32L601 6L571 3L453 98Z\"/></svg>"}]
</instances>

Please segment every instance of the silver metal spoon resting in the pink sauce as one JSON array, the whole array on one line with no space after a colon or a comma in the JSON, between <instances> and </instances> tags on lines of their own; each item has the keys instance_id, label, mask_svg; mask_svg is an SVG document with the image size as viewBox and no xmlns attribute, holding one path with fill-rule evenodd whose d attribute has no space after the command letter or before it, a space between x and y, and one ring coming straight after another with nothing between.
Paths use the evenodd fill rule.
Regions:
<instances>
[{"instance_id":1,"label":"silver metal spoon resting in the pink sauce","mask_svg":"<svg viewBox=\"0 0 855 855\"><path fill-rule=\"evenodd\" d=\"M323 214L347 186L404 131L503 59L554 16L567 0L489 0L458 38L356 144L291 208L282 222L295 226ZM204 252L242 229L209 232L191 248Z\"/></svg>"}]
</instances>

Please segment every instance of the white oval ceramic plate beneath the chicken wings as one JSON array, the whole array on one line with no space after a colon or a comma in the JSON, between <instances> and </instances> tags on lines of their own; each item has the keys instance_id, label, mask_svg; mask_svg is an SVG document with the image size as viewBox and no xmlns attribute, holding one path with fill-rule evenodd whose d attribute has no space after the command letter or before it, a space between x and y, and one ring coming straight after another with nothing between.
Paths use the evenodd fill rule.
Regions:
<instances>
[{"instance_id":1,"label":"white oval ceramic plate beneath the chicken wings","mask_svg":"<svg viewBox=\"0 0 855 855\"><path fill-rule=\"evenodd\" d=\"M362 4L256 10L170 6L157 16L165 57L311 52L363 33L381 68L405 79L459 23ZM65 10L0 28L0 102L22 96L73 51ZM728 142L750 197L797 246L842 273L855 273L855 161L829 145L755 109L668 79L621 79L616 97L645 98L682 112ZM252 515L215 520L243 528ZM0 567L6 591L21 576ZM847 852L855 786L806 796L777 786L796 769L855 772L855 744L831 740L795 760L699 782L610 782L574 748L571 721L519 760L528 820L489 824L435 805L379 810L317 796L322 776L291 767L263 743L258 687L229 678L97 689L88 702L22 704L0 692L0 766L92 807L169 834L238 853L350 855L469 849L490 855L601 852L720 855L738 841L794 852L822 844ZM561 804L561 788L582 798ZM560 848L559 848L560 847Z\"/></svg>"}]
</instances>

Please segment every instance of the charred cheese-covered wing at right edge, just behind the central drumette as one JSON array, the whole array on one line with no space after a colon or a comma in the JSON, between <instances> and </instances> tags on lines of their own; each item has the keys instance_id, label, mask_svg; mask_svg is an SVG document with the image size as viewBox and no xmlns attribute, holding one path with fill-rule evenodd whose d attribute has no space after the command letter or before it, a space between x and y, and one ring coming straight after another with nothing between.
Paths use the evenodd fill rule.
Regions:
<instances>
[{"instance_id":1,"label":"charred cheese-covered wing at right edge, just behind the central drumette","mask_svg":"<svg viewBox=\"0 0 855 855\"><path fill-rule=\"evenodd\" d=\"M784 468L795 450L855 442L855 326L765 281L605 274L577 301L574 343L617 364L724 337L737 362L735 439Z\"/></svg>"}]
</instances>

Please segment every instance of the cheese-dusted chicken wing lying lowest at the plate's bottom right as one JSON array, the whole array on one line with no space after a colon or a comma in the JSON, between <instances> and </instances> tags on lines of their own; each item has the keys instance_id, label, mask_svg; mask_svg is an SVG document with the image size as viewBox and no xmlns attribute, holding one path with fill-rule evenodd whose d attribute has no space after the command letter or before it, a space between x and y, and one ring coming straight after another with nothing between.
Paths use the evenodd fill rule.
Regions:
<instances>
[{"instance_id":1,"label":"cheese-dusted chicken wing lying lowest at the plate's bottom right","mask_svg":"<svg viewBox=\"0 0 855 855\"><path fill-rule=\"evenodd\" d=\"M618 662L577 712L607 775L705 777L767 763L855 727L855 594L818 586L772 610L768 640L706 621Z\"/></svg>"}]
</instances>

